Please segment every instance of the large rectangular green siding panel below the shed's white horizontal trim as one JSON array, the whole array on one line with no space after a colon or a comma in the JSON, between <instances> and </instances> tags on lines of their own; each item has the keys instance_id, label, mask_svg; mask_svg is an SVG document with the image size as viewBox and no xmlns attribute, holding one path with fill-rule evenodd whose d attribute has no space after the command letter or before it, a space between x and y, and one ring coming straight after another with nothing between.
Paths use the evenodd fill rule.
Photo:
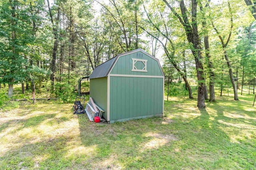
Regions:
<instances>
[{"instance_id":1,"label":"large rectangular green siding panel below the shed's white horizontal trim","mask_svg":"<svg viewBox=\"0 0 256 170\"><path fill-rule=\"evenodd\" d=\"M110 77L110 121L163 113L163 78Z\"/></svg>"}]
</instances>

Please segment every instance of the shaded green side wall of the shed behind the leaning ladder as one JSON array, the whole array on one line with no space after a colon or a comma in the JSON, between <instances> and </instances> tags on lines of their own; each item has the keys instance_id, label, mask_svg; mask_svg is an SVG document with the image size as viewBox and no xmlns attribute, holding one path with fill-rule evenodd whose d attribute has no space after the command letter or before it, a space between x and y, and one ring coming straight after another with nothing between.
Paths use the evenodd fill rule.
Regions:
<instances>
[{"instance_id":1,"label":"shaded green side wall of the shed behind the leaning ladder","mask_svg":"<svg viewBox=\"0 0 256 170\"><path fill-rule=\"evenodd\" d=\"M102 108L105 113L103 117L107 119L107 78L90 79L90 97Z\"/></svg>"}]
</instances>

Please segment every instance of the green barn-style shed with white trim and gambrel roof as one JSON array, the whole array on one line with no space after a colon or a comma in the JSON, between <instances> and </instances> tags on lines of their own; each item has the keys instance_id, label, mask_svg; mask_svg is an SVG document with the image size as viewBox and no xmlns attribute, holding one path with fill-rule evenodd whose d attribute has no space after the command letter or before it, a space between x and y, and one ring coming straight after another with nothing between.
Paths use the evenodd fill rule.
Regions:
<instances>
[{"instance_id":1,"label":"green barn-style shed with white trim and gambrel roof","mask_svg":"<svg viewBox=\"0 0 256 170\"><path fill-rule=\"evenodd\" d=\"M90 97L108 123L162 116L164 73L158 59L136 49L100 64L90 75Z\"/></svg>"}]
</instances>

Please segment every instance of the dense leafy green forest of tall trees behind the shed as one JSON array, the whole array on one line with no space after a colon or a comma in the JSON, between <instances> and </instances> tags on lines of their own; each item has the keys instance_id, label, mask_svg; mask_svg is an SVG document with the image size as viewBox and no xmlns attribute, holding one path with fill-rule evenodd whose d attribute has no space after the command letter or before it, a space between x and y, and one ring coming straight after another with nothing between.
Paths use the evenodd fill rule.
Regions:
<instances>
[{"instance_id":1,"label":"dense leafy green forest of tall trees behind the shed","mask_svg":"<svg viewBox=\"0 0 256 170\"><path fill-rule=\"evenodd\" d=\"M251 0L2 0L0 9L0 88L8 86L8 98L14 84L22 93L67 94L99 64L138 48L162 61L166 82L183 80L189 98L195 80L199 108L215 101L216 86L221 95L232 88L234 100L245 85L254 94Z\"/></svg>"}]
</instances>

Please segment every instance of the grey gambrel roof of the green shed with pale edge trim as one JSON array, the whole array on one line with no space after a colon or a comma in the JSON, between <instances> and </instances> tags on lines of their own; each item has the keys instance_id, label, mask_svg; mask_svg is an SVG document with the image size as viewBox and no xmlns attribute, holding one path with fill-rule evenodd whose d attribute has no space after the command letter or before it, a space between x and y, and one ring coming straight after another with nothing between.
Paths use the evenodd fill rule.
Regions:
<instances>
[{"instance_id":1,"label":"grey gambrel roof of the green shed with pale edge trim","mask_svg":"<svg viewBox=\"0 0 256 170\"><path fill-rule=\"evenodd\" d=\"M144 54L146 54L146 55L148 55L152 59L156 60L158 62L158 64L159 64L159 66L160 66L159 60L156 57L150 55L149 53L147 53L146 51L144 51L142 49L136 49L136 50L128 51L126 53L118 54L118 55L116 55L116 57L113 57L112 59L110 59L110 60L108 60L108 61L106 61L106 62L104 62L104 63L102 63L102 64L100 64L98 66L96 66L94 68L92 74L90 75L90 79L92 79L92 78L107 77L119 57L131 54L131 53L136 53L136 52L139 52L139 51L144 53ZM160 69L162 71L162 74L164 75L164 72L163 72L161 66L160 66Z\"/></svg>"}]
</instances>

